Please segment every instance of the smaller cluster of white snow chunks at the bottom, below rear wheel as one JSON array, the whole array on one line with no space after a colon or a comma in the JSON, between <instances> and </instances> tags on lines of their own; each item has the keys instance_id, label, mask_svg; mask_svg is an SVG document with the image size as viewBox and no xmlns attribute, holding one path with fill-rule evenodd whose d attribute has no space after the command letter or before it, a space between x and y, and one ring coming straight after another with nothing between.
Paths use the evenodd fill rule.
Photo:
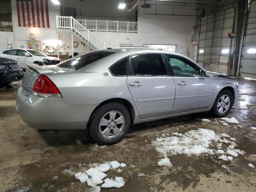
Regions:
<instances>
[{"instance_id":1,"label":"smaller cluster of white snow chunks at the bottom, below rear wheel","mask_svg":"<svg viewBox=\"0 0 256 192\"><path fill-rule=\"evenodd\" d=\"M77 180L80 180L81 183L87 182L87 185L92 187L91 191L100 191L100 186L98 185L102 184L103 179L107 176L105 172L107 172L111 168L116 169L116 168L119 168L120 166L124 168L126 166L126 164L124 163L120 164L117 161L106 162L104 164L94 163L90 165L94 166L94 168L91 167L84 172L78 172L78 173L71 172L71 170L64 170L64 173L65 174L69 173L71 175L74 175L75 178ZM122 172L120 168L118 170L119 170L117 171L118 173ZM112 178L111 179L106 178L104 180L104 183L102 184L102 187L103 188L111 188L111 187L121 188L124 186L124 184L125 184L125 181L124 181L124 178L122 177L116 177L115 180L113 180Z\"/></svg>"}]
</instances>

